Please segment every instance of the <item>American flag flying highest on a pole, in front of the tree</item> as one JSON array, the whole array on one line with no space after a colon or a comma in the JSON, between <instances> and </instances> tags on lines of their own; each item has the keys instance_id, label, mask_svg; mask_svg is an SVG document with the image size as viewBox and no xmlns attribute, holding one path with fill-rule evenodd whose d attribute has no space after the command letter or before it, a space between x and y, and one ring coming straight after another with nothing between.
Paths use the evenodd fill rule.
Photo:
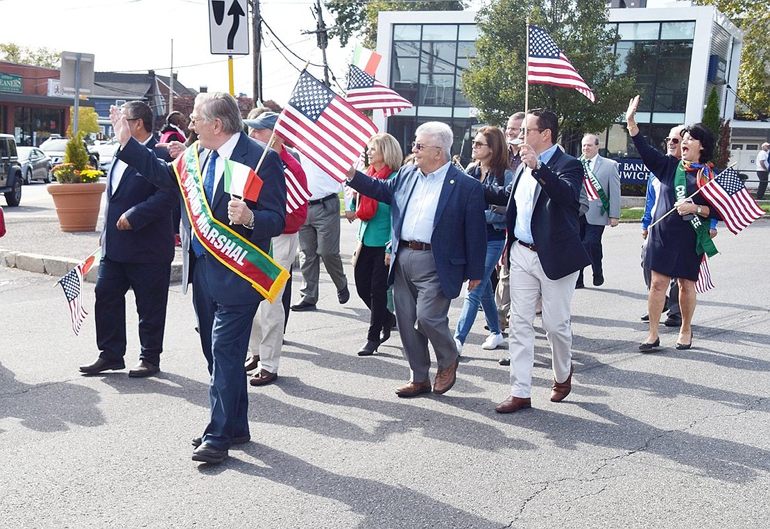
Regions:
<instances>
[{"instance_id":1,"label":"American flag flying highest on a pole, in front of the tree","mask_svg":"<svg viewBox=\"0 0 770 529\"><path fill-rule=\"evenodd\" d=\"M594 92L588 88L554 39L536 25L529 26L527 82L567 86L591 99L591 103L596 101Z\"/></svg>"}]
</instances>

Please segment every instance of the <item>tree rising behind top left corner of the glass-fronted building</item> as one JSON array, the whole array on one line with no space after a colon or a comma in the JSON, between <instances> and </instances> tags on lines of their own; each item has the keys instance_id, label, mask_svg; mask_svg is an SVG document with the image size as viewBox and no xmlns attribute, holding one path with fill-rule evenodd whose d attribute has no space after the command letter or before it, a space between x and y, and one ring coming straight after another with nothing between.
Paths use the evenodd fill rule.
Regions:
<instances>
[{"instance_id":1,"label":"tree rising behind top left corner of the glass-fronted building","mask_svg":"<svg viewBox=\"0 0 770 529\"><path fill-rule=\"evenodd\" d=\"M377 47L377 14L380 11L462 11L462 0L326 0L326 8L334 15L335 29L343 46L355 35L363 37L366 48Z\"/></svg>"}]
</instances>

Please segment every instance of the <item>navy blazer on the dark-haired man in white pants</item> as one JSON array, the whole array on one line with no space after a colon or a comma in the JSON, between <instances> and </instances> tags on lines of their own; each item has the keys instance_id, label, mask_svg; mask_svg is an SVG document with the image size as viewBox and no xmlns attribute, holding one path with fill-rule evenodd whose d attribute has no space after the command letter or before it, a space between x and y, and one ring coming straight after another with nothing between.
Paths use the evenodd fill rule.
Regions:
<instances>
[{"instance_id":1,"label":"navy blazer on the dark-haired man in white pants","mask_svg":"<svg viewBox=\"0 0 770 529\"><path fill-rule=\"evenodd\" d=\"M508 231L506 255L511 250L516 224L514 195L524 174L524 164L507 187L484 186L484 196L490 204L507 204L505 227ZM540 184L535 190L532 211L532 238L537 257L549 279L561 279L591 264L591 258L580 239L580 194L583 187L583 166L576 158L556 150L548 163L532 176Z\"/></svg>"}]
</instances>

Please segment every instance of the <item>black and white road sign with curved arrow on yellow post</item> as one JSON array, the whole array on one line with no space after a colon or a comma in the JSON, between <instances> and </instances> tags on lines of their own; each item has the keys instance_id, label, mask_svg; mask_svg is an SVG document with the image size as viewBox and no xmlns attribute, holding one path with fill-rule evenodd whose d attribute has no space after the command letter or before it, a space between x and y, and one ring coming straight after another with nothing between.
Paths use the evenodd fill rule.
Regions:
<instances>
[{"instance_id":1,"label":"black and white road sign with curved arrow on yellow post","mask_svg":"<svg viewBox=\"0 0 770 529\"><path fill-rule=\"evenodd\" d=\"M249 55L249 10L246 0L209 0L211 52Z\"/></svg>"}]
</instances>

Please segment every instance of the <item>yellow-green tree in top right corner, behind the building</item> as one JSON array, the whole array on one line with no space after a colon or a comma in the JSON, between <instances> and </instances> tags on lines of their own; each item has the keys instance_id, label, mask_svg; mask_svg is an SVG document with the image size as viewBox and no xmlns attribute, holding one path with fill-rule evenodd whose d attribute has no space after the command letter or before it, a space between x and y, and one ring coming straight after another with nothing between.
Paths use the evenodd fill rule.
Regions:
<instances>
[{"instance_id":1,"label":"yellow-green tree in top right corner, behind the building","mask_svg":"<svg viewBox=\"0 0 770 529\"><path fill-rule=\"evenodd\" d=\"M741 66L738 69L738 97L749 113L770 116L770 89L766 58L770 56L770 10L764 0L695 0L714 5L744 31Z\"/></svg>"}]
</instances>

